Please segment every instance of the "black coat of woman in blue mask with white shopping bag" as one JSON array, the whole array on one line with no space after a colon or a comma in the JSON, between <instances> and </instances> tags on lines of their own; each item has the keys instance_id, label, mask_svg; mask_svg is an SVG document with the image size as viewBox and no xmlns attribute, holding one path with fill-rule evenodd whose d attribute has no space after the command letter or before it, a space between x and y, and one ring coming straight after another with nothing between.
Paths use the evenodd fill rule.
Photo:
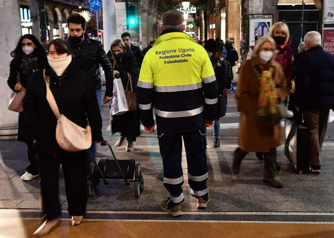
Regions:
<instances>
[{"instance_id":1,"label":"black coat of woman in blue mask with white shopping bag","mask_svg":"<svg viewBox=\"0 0 334 238\"><path fill-rule=\"evenodd\" d=\"M114 59L111 56L111 52L107 53L111 64L114 64ZM128 73L131 74L133 90L137 91L138 83L138 67L137 61L134 56L134 53L127 46L127 52L122 55L120 60L117 60L117 63L114 67L114 70L117 70L120 73L120 76L115 76L115 78L120 78L123 84L123 88L126 89L126 84L128 82ZM128 90L131 90L130 85ZM137 111L126 112L124 114L113 116L111 130L112 133L121 132L122 135L127 136L127 140L136 141L136 137L139 135L140 129L140 119L139 119L139 110L137 105Z\"/></svg>"}]
</instances>

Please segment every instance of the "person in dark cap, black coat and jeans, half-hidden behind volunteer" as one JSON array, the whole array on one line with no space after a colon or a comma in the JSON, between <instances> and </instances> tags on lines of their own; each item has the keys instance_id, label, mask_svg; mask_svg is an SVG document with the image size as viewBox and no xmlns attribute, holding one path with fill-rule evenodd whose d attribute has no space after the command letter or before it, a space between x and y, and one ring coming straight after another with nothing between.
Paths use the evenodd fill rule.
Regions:
<instances>
[{"instance_id":1,"label":"person in dark cap, black coat and jeans, half-hidden behind volunteer","mask_svg":"<svg viewBox=\"0 0 334 238\"><path fill-rule=\"evenodd\" d=\"M229 65L227 60L221 56L218 56L217 43L214 39L208 39L205 42L204 49L206 50L212 66L215 70L216 80L218 83L218 102L217 102L217 112L215 116L214 129L214 147L220 147L220 121L219 118L225 116L227 107L227 82L228 82L228 72Z\"/></svg>"}]
</instances>

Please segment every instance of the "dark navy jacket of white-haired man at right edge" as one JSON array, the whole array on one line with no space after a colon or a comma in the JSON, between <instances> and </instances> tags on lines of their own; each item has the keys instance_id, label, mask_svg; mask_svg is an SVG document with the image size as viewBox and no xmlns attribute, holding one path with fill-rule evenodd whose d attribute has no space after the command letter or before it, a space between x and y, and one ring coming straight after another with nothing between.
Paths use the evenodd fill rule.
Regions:
<instances>
[{"instance_id":1,"label":"dark navy jacket of white-haired man at right edge","mask_svg":"<svg viewBox=\"0 0 334 238\"><path fill-rule=\"evenodd\" d=\"M334 108L334 56L311 47L297 62L295 104L303 110Z\"/></svg>"}]
</instances>

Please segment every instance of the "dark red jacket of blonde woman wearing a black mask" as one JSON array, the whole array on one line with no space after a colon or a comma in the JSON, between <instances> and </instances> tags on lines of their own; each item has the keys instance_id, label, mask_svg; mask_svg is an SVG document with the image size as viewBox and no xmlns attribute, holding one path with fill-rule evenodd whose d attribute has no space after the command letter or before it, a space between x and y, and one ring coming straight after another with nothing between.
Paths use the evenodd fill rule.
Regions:
<instances>
[{"instance_id":1,"label":"dark red jacket of blonde woman wearing a black mask","mask_svg":"<svg viewBox=\"0 0 334 238\"><path fill-rule=\"evenodd\" d=\"M291 38L289 38L286 45L279 45L276 43L276 49L278 50L278 55L275 59L278 63L283 66L284 74L287 81L287 88L291 87L291 77L292 77L292 50L290 48Z\"/></svg>"}]
</instances>

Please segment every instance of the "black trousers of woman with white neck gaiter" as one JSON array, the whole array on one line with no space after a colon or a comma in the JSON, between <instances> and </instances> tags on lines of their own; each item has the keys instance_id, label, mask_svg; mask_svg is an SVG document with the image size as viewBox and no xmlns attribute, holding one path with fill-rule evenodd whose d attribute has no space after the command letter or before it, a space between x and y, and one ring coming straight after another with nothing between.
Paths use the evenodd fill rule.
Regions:
<instances>
[{"instance_id":1,"label":"black trousers of woman with white neck gaiter","mask_svg":"<svg viewBox=\"0 0 334 238\"><path fill-rule=\"evenodd\" d=\"M68 214L83 216L87 206L87 152L61 150L54 156L38 154L39 184L45 218L60 216L59 167L63 168Z\"/></svg>"}]
</instances>

